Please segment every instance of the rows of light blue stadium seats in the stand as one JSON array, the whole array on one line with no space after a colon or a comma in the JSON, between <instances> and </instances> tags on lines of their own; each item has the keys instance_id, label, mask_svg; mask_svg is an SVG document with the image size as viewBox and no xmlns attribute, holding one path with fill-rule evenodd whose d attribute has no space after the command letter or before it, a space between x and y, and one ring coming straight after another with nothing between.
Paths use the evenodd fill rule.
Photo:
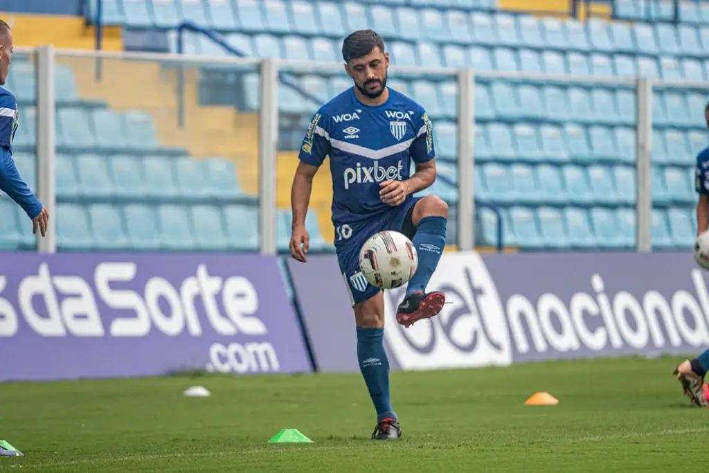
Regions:
<instances>
[{"instance_id":1,"label":"rows of light blue stadium seats in the stand","mask_svg":"<svg viewBox=\"0 0 709 473\"><path fill-rule=\"evenodd\" d=\"M640 22L537 19L491 10L494 2L481 0L110 0L104 1L103 20L129 30L174 28L189 20L222 31L246 55L304 61L340 62L345 31L372 26L386 38L394 65L709 79L709 26L703 26L709 25L709 8L682 1L681 23L675 25L667 21L672 12L662 2L651 9L631 0L613 4L618 18ZM650 22L659 20L667 22ZM185 38L188 52L228 55L202 35ZM175 44L173 35L173 51ZM255 202L240 189L233 162L195 160L184 150L164 147L150 116L82 99L68 67L57 66L55 77L58 199L62 216L76 223L61 226L62 249L257 248ZM311 70L298 80L323 101L350 84L332 71ZM454 204L457 84L450 76L420 74L392 74L389 84L411 94L432 117L445 179L428 192ZM34 186L31 63L16 61L7 85L21 103L16 161ZM238 87L242 105L257 110L257 76L241 77ZM313 111L313 104L295 91L280 89L281 113ZM233 104L227 94L214 94L216 103ZM691 87L658 87L654 93L653 241L658 248L691 245L696 225L691 165L707 145L702 113L707 98ZM528 249L633 244L635 111L634 90L627 86L476 79L476 198L501 208L506 243ZM302 130L281 131L296 137L281 140L284 149L293 149ZM15 216L16 221L3 223L2 247L26 247L31 241L26 216ZM494 244L494 213L481 207L476 221L479 243ZM282 250L289 214L279 213L278 222ZM316 223L308 213L308 225ZM78 235L81 231L86 233ZM311 238L313 247L330 247L317 228Z\"/></svg>"}]
</instances>

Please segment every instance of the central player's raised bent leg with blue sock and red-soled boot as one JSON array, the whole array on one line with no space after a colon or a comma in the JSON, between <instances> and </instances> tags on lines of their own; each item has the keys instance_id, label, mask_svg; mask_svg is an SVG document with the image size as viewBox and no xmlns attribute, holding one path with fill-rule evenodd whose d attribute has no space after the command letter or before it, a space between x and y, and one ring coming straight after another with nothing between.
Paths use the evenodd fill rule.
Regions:
<instances>
[{"instance_id":1,"label":"central player's raised bent leg with blue sock and red-soled boot","mask_svg":"<svg viewBox=\"0 0 709 473\"><path fill-rule=\"evenodd\" d=\"M406 287L406 296L396 309L396 321L408 327L415 321L436 316L445 304L442 292L426 292L426 286L435 272L443 248L448 223L448 205L437 196L425 196L419 199L403 222L404 233L407 227L415 228L411 243L418 252L418 268Z\"/></svg>"}]
</instances>

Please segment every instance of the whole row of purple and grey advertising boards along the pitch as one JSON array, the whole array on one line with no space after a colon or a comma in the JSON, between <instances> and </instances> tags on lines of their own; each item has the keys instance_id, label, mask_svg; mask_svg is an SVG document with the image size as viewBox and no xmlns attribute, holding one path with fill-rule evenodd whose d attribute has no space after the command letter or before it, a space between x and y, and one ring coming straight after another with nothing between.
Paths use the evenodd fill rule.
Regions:
<instances>
[{"instance_id":1,"label":"whole row of purple and grey advertising boards along the pitch","mask_svg":"<svg viewBox=\"0 0 709 473\"><path fill-rule=\"evenodd\" d=\"M0 381L359 369L333 255L2 258ZM691 252L447 253L437 318L401 328L401 290L385 294L386 348L393 369L692 353L709 344L708 282Z\"/></svg>"}]
</instances>

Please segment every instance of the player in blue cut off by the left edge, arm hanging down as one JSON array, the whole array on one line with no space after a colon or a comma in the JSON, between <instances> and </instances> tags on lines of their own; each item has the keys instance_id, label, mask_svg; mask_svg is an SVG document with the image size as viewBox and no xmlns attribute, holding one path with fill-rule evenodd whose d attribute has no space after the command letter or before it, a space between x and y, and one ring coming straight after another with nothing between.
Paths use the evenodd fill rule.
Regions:
<instances>
[{"instance_id":1,"label":"player in blue cut off by the left edge, arm hanging down","mask_svg":"<svg viewBox=\"0 0 709 473\"><path fill-rule=\"evenodd\" d=\"M12 58L12 33L7 23L0 20L0 86L5 85ZM17 172L12 157L12 140L17 130L19 111L15 97L0 87L0 190L16 201L32 219L32 231L45 236L49 213L30 191Z\"/></svg>"}]
</instances>

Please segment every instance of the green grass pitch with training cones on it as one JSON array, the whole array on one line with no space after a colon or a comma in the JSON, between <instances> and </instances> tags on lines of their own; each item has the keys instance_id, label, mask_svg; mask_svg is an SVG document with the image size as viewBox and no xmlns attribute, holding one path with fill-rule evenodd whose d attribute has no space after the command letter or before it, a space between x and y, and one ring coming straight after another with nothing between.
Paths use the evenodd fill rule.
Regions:
<instances>
[{"instance_id":1,"label":"green grass pitch with training cones on it","mask_svg":"<svg viewBox=\"0 0 709 473\"><path fill-rule=\"evenodd\" d=\"M0 384L0 472L669 472L705 467L681 358L394 372L403 439L369 440L359 374ZM186 398L193 384L209 398ZM524 406L548 391L557 406ZM267 445L281 428L312 444Z\"/></svg>"}]
</instances>

